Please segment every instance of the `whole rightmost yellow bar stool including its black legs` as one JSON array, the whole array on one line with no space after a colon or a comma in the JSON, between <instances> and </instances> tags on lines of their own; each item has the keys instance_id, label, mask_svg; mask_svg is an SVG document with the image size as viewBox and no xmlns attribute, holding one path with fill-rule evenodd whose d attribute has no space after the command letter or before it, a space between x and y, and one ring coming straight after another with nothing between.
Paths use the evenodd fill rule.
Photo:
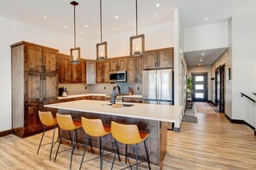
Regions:
<instances>
[{"instance_id":1,"label":"whole rightmost yellow bar stool including its black legs","mask_svg":"<svg viewBox=\"0 0 256 170\"><path fill-rule=\"evenodd\" d=\"M118 150L119 143L125 144L126 149L127 149L127 145L135 145L136 169L138 169L138 144L143 142L145 151L146 151L146 155L147 155L148 168L151 169L149 156L148 156L148 152L147 152L147 146L146 146L146 139L147 139L147 137L149 137L148 133L140 133L138 126L136 124L118 124L114 121L111 121L111 133L112 133L112 136L118 142L118 143L116 143L116 153ZM116 153L113 158L111 169L113 169L113 167L114 167ZM128 158L129 167L130 167L130 169L132 169L127 151L125 153L125 157L126 157L126 159Z\"/></svg>"}]
</instances>

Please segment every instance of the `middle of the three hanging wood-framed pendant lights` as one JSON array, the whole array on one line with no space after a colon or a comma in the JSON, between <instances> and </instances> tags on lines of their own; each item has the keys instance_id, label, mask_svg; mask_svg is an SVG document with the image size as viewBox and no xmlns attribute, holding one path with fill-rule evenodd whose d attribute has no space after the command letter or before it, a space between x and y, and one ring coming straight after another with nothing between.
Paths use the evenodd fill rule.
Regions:
<instances>
[{"instance_id":1,"label":"middle of the three hanging wood-framed pendant lights","mask_svg":"<svg viewBox=\"0 0 256 170\"><path fill-rule=\"evenodd\" d=\"M107 42L103 42L103 9L102 0L100 0L100 29L101 29L101 42L96 45L97 60L104 60L108 58Z\"/></svg>"}]
</instances>

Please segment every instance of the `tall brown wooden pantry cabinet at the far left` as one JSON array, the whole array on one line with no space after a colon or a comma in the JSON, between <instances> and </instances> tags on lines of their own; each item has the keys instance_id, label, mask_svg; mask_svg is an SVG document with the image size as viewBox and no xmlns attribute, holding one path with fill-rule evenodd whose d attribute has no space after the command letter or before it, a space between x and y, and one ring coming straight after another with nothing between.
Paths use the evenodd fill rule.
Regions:
<instances>
[{"instance_id":1,"label":"tall brown wooden pantry cabinet at the far left","mask_svg":"<svg viewBox=\"0 0 256 170\"><path fill-rule=\"evenodd\" d=\"M11 46L12 129L27 137L43 127L38 111L51 111L43 105L58 100L58 50L19 42Z\"/></svg>"}]
</instances>

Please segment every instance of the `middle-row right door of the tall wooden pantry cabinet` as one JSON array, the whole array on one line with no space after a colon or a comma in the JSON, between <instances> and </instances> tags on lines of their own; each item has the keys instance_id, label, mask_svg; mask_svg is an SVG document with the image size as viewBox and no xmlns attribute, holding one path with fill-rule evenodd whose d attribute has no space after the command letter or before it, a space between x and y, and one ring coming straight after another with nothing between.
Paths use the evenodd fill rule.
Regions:
<instances>
[{"instance_id":1,"label":"middle-row right door of the tall wooden pantry cabinet","mask_svg":"<svg viewBox=\"0 0 256 170\"><path fill-rule=\"evenodd\" d=\"M58 98L58 75L53 73L43 74L43 101L55 101Z\"/></svg>"}]
</instances>

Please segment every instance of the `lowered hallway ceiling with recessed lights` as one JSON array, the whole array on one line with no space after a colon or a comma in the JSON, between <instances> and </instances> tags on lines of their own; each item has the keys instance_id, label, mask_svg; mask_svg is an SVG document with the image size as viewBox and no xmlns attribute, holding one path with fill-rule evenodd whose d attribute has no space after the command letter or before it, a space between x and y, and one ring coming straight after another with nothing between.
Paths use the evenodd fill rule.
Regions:
<instances>
[{"instance_id":1,"label":"lowered hallway ceiling with recessed lights","mask_svg":"<svg viewBox=\"0 0 256 170\"><path fill-rule=\"evenodd\" d=\"M211 65L219 58L227 48L215 48L195 52L184 52L188 66ZM203 61L200 61L202 59Z\"/></svg>"}]
</instances>

